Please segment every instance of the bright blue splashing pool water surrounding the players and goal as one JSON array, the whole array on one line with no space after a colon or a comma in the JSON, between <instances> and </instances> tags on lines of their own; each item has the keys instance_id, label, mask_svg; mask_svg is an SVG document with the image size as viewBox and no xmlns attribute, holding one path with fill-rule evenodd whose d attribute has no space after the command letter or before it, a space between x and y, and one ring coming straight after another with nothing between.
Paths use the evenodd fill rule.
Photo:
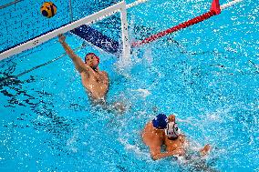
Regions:
<instances>
[{"instance_id":1,"label":"bright blue splashing pool water surrounding the players and goal","mask_svg":"<svg viewBox=\"0 0 259 172\"><path fill-rule=\"evenodd\" d=\"M96 2L99 9L113 3ZM150 0L131 8L130 40L201 15L210 3ZM78 56L89 51L100 56L100 68L109 73L108 101L127 105L123 114L89 103L57 38L1 61L1 171L258 171L258 5L244 1L201 24L132 49L133 65L122 74L118 57L67 35L73 48L84 45ZM81 17L82 8L75 5L76 16ZM119 37L119 21L114 25L105 21L94 26ZM9 35L1 36L1 49L25 41L6 45ZM140 133L155 116L154 109L185 120L179 123L181 130L195 148L210 143L210 156L194 162L172 157L153 161Z\"/></svg>"}]
</instances>

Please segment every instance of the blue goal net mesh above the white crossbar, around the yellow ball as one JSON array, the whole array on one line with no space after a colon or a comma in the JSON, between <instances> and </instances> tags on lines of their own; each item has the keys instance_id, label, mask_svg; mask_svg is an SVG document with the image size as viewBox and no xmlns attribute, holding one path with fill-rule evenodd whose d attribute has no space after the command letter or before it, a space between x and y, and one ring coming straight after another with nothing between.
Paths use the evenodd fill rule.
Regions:
<instances>
[{"instance_id":1,"label":"blue goal net mesh above the white crossbar, around the yellow ball","mask_svg":"<svg viewBox=\"0 0 259 172\"><path fill-rule=\"evenodd\" d=\"M0 52L16 45L67 25L73 19L78 20L84 16L91 15L109 5L116 4L118 0L100 1L71 1L56 0L57 15L46 18L40 14L40 6L44 1L17 1L13 5L7 5L12 1L1 3L0 8ZM72 13L71 13L72 12Z\"/></svg>"}]
</instances>

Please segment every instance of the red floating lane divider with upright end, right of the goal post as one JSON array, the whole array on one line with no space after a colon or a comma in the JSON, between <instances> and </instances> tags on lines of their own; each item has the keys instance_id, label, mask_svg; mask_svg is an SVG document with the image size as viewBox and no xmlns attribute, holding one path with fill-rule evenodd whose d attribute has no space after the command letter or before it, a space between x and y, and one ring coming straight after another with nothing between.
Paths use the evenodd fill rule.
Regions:
<instances>
[{"instance_id":1,"label":"red floating lane divider with upright end, right of the goal post","mask_svg":"<svg viewBox=\"0 0 259 172\"><path fill-rule=\"evenodd\" d=\"M147 37L143 40L133 42L131 44L131 46L132 47L138 47L138 46L142 46L142 45L145 45L145 44L149 44L150 42L153 42L153 41L161 38L162 36L169 35L173 32L179 31L183 28L189 27L191 25L198 24L198 23L200 23L204 20L209 19L213 15L219 15L219 14L221 14L221 6L220 6L220 3L219 3L219 0L212 0L212 6L211 6L211 9L210 9L209 12L204 13L203 15L196 16L196 17L192 18L191 20L183 22L179 25L175 25L175 26L173 26L173 27L171 27L167 30L161 31L158 34L150 35L150 37Z\"/></svg>"}]
</instances>

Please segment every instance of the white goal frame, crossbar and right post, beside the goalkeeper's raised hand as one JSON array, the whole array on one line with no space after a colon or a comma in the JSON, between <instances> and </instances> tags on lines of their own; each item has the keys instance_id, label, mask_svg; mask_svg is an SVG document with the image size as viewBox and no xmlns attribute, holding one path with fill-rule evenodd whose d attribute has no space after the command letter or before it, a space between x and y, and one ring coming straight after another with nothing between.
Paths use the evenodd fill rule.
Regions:
<instances>
[{"instance_id":1,"label":"white goal frame, crossbar and right post, beside the goalkeeper's raised hand","mask_svg":"<svg viewBox=\"0 0 259 172\"><path fill-rule=\"evenodd\" d=\"M96 21L113 15L117 12L120 12L120 20L121 20L121 35L122 35L122 58L125 60L129 60L130 46L129 46L129 32L128 32L128 21L127 21L127 6L125 1L119 2L116 5L111 5L103 10L98 11L92 15L88 15L84 18L81 18L73 23L64 25L60 28L57 28L53 31L48 32L45 35L39 35L33 38L26 43L17 45L11 49L6 50L5 52L0 54L0 61L9 57L15 56L19 53L22 53L28 49L39 46L46 41L56 37L59 34L67 33L68 31L77 28L80 25L91 25Z\"/></svg>"}]
</instances>

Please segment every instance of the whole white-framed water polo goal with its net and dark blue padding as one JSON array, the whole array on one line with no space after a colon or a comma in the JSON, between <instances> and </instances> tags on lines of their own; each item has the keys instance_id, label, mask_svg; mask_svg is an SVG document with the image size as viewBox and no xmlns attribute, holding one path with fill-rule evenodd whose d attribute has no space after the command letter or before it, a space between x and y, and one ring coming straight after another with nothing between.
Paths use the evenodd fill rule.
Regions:
<instances>
[{"instance_id":1,"label":"whole white-framed water polo goal with its net and dark blue padding","mask_svg":"<svg viewBox=\"0 0 259 172\"><path fill-rule=\"evenodd\" d=\"M40 14L40 2L32 2L28 6L23 0L16 0L13 4L1 5L0 60L26 52L67 32L109 53L120 52L120 56L129 58L127 6L124 1L115 3L116 1L106 5L98 4L98 7L86 4L72 8L75 4L71 4L71 1L59 0L55 2L57 15L49 19ZM88 9L89 7L92 9ZM103 9L89 14L99 8ZM81 13L75 12L77 10ZM119 31L105 28L110 22Z\"/></svg>"}]
</instances>

